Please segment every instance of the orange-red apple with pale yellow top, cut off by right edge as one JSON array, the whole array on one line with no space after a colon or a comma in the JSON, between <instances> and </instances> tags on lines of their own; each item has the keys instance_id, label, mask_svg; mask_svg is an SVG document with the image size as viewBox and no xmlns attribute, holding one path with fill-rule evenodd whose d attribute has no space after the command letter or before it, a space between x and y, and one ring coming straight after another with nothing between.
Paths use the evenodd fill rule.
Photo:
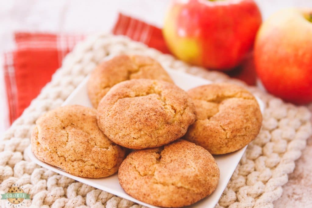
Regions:
<instances>
[{"instance_id":1,"label":"orange-red apple with pale yellow top, cut off by right edge","mask_svg":"<svg viewBox=\"0 0 312 208\"><path fill-rule=\"evenodd\" d=\"M312 9L284 9L258 31L256 72L271 93L295 104L312 101Z\"/></svg>"}]
</instances>

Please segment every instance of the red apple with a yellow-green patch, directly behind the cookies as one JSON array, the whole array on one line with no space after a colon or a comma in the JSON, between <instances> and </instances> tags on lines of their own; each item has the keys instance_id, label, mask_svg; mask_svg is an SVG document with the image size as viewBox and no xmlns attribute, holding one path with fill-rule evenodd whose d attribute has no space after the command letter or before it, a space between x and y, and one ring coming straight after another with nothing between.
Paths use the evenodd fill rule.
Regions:
<instances>
[{"instance_id":1,"label":"red apple with a yellow-green patch, directly behind the cookies","mask_svg":"<svg viewBox=\"0 0 312 208\"><path fill-rule=\"evenodd\" d=\"M260 24L253 0L176 0L165 17L163 35L179 59L228 70L243 60Z\"/></svg>"}]
</instances>

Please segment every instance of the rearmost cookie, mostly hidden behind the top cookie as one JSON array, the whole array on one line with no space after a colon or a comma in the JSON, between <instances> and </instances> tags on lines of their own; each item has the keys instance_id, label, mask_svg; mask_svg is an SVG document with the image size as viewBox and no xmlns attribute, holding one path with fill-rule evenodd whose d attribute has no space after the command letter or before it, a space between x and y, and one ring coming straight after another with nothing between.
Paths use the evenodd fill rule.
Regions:
<instances>
[{"instance_id":1,"label":"rearmost cookie, mostly hidden behind the top cookie","mask_svg":"<svg viewBox=\"0 0 312 208\"><path fill-rule=\"evenodd\" d=\"M119 82L132 79L152 79L172 82L163 67L148 56L115 56L99 64L88 81L88 95L97 108L100 100Z\"/></svg>"}]
</instances>

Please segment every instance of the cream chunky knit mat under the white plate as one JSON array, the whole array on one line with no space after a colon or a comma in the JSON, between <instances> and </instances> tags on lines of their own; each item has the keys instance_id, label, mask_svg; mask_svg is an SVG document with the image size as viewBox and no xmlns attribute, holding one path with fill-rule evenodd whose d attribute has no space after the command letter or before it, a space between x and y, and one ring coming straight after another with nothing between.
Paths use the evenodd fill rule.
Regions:
<instances>
[{"instance_id":1,"label":"cream chunky knit mat under the white plate","mask_svg":"<svg viewBox=\"0 0 312 208\"><path fill-rule=\"evenodd\" d=\"M18 183L30 194L31 200L25 200L26 206L30 207L141 207L46 170L24 154L37 118L60 106L105 56L122 53L151 56L164 66L214 82L244 85L222 73L189 66L123 36L90 36L66 56L52 81L5 133L0 143L0 193ZM293 172L295 160L312 134L311 114L307 108L285 104L256 87L247 89L266 104L262 129L248 146L216 207L273 207L272 202L281 196L282 186L288 181L287 174ZM6 202L0 200L0 206L8 207Z\"/></svg>"}]
</instances>

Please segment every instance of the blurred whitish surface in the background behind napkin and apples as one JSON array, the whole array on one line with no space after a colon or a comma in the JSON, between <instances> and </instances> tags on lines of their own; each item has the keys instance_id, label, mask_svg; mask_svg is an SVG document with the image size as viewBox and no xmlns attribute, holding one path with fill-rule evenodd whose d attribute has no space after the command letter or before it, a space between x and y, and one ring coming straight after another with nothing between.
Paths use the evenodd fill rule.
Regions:
<instances>
[{"instance_id":1,"label":"blurred whitish surface in the background behind napkin and apples","mask_svg":"<svg viewBox=\"0 0 312 208\"><path fill-rule=\"evenodd\" d=\"M255 0L263 19L284 7L312 7L312 0ZM15 31L90 34L110 31L118 12L161 27L169 0L0 0L0 135L8 126L3 56L13 50ZM288 204L290 206L290 204Z\"/></svg>"}]
</instances>

